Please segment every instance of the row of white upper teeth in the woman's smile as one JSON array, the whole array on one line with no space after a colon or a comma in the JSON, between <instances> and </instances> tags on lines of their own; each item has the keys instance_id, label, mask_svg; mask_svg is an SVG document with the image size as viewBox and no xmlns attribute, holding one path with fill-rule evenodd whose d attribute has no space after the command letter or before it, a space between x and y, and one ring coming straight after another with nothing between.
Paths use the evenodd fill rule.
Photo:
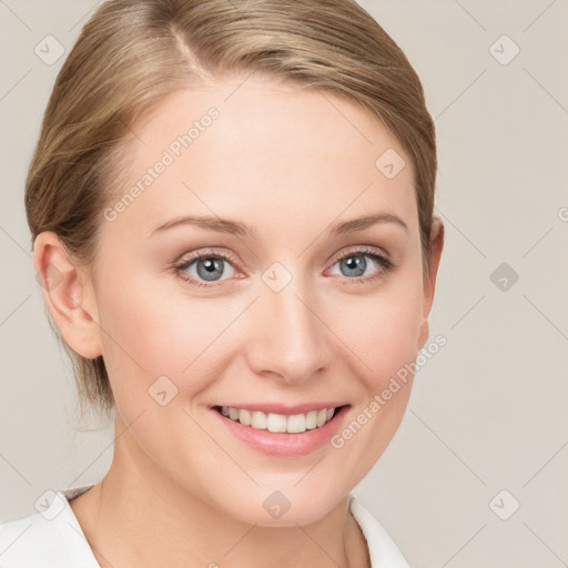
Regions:
<instances>
[{"instance_id":1,"label":"row of white upper teeth in the woman's smile","mask_svg":"<svg viewBox=\"0 0 568 568\"><path fill-rule=\"evenodd\" d=\"M252 426L258 430L287 432L288 434L301 434L305 430L320 428L329 422L335 408L323 408L321 410L311 410L306 414L275 414L262 413L257 410L246 410L244 408L232 408L222 406L221 414L232 420L240 422L245 426Z\"/></svg>"}]
</instances>

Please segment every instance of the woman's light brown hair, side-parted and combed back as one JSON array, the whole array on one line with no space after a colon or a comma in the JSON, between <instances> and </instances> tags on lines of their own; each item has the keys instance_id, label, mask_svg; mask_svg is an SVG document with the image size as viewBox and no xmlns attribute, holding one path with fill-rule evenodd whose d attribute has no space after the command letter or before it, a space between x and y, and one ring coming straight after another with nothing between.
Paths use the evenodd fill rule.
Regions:
<instances>
[{"instance_id":1,"label":"woman's light brown hair, side-parted and combed back","mask_svg":"<svg viewBox=\"0 0 568 568\"><path fill-rule=\"evenodd\" d=\"M32 234L55 232L75 262L97 255L102 212L128 171L121 143L165 95L234 73L265 73L343 95L381 120L412 160L423 267L437 169L435 129L418 75L354 0L110 0L64 61L26 180ZM378 158L378 156L377 156ZM102 357L69 354L82 404L110 416Z\"/></svg>"}]
</instances>

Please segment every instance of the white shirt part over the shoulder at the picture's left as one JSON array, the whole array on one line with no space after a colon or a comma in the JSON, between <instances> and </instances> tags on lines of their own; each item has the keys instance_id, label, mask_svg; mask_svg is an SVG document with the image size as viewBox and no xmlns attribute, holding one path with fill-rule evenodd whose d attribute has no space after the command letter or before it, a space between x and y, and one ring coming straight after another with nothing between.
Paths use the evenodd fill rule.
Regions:
<instances>
[{"instance_id":1,"label":"white shirt part over the shoulder at the picture's left","mask_svg":"<svg viewBox=\"0 0 568 568\"><path fill-rule=\"evenodd\" d=\"M0 524L0 566L100 568L68 500L87 488L48 491L42 513Z\"/></svg>"}]
</instances>

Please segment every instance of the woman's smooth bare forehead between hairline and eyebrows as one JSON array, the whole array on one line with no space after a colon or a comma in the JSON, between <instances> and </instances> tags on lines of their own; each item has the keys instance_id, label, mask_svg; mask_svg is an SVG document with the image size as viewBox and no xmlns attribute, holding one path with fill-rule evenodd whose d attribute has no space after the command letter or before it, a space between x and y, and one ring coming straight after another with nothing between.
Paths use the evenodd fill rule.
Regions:
<instances>
[{"instance_id":1,"label":"woman's smooth bare forehead between hairline and eyebrows","mask_svg":"<svg viewBox=\"0 0 568 568\"><path fill-rule=\"evenodd\" d=\"M417 219L398 141L358 103L329 92L225 79L170 94L133 132L114 203L135 194L122 200L120 221L144 234L181 213L251 224L261 213L272 223L327 224L369 209Z\"/></svg>"}]
</instances>

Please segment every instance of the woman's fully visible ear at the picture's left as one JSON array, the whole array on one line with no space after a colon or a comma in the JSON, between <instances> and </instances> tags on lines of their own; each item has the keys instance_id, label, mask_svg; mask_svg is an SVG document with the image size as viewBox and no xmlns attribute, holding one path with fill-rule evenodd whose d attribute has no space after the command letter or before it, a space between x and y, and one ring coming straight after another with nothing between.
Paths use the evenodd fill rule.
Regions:
<instances>
[{"instance_id":1,"label":"woman's fully visible ear at the picture's left","mask_svg":"<svg viewBox=\"0 0 568 568\"><path fill-rule=\"evenodd\" d=\"M73 263L52 231L36 237L33 266L45 304L65 343L85 358L102 355L94 290L87 268Z\"/></svg>"}]
</instances>

